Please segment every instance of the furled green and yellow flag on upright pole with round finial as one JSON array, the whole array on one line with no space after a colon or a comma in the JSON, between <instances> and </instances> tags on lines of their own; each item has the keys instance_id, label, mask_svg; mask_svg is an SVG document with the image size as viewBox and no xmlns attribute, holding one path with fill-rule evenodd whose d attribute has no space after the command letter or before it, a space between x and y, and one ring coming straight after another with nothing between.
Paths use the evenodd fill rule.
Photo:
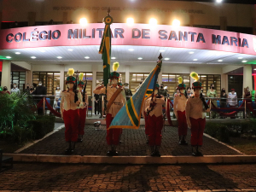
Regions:
<instances>
[{"instance_id":1,"label":"furled green and yellow flag on upright pole with round finial","mask_svg":"<svg viewBox=\"0 0 256 192\"><path fill-rule=\"evenodd\" d=\"M111 57L111 31L110 25L113 23L113 19L110 15L104 18L105 29L102 37L101 47L99 54L102 54L103 60L103 80L104 85L107 86L110 75L110 57Z\"/></svg>"}]
</instances>

